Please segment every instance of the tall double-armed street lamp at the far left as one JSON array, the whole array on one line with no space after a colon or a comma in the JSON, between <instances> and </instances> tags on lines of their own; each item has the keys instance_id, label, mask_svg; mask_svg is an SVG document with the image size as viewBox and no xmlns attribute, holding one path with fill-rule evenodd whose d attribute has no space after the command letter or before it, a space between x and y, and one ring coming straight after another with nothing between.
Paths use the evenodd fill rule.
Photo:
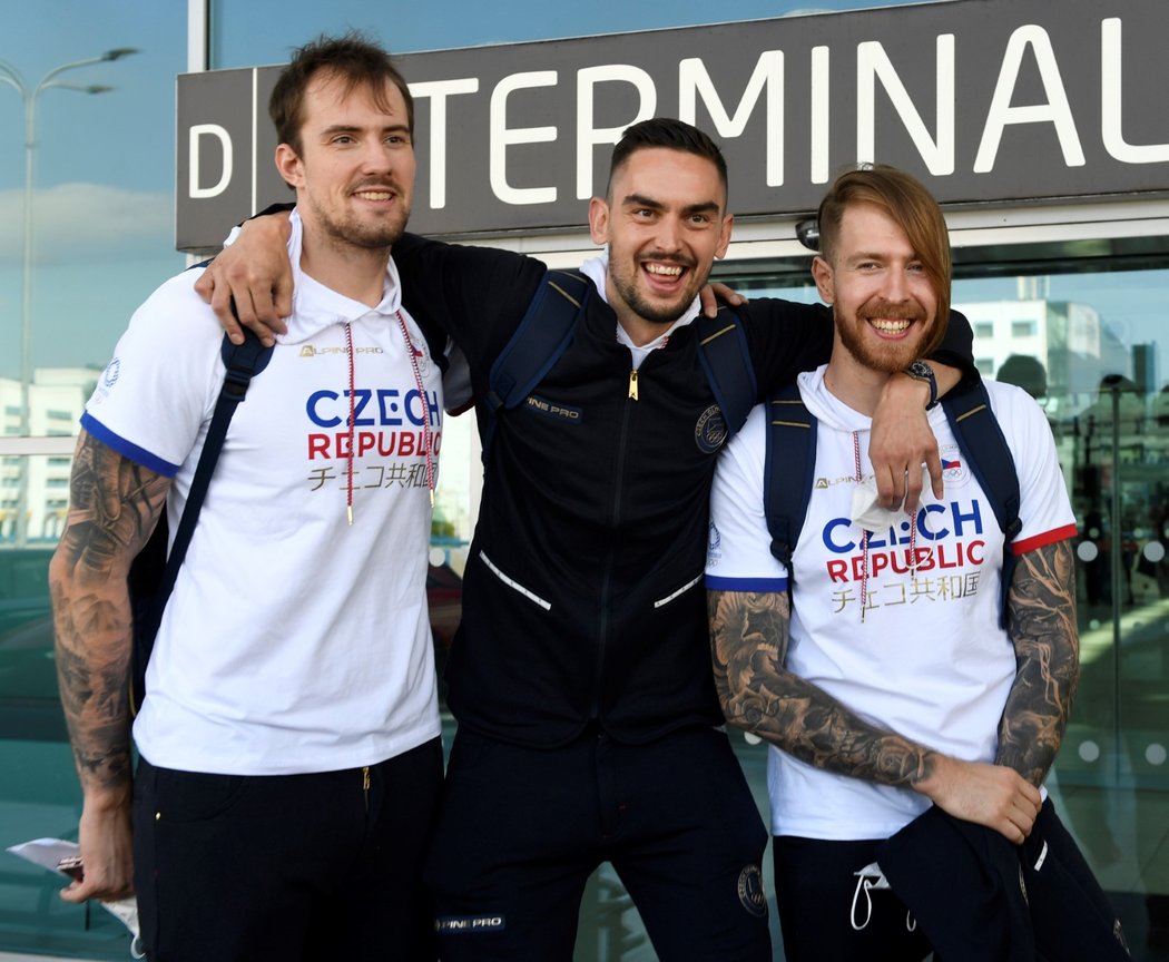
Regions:
<instances>
[{"instance_id":1,"label":"tall double-armed street lamp at the far left","mask_svg":"<svg viewBox=\"0 0 1169 962\"><path fill-rule=\"evenodd\" d=\"M33 154L36 150L36 101L46 90L60 88L82 94L106 94L112 86L105 84L75 84L57 77L67 70L91 67L95 63L122 60L137 54L134 47L116 47L96 57L85 57L54 67L41 77L35 86L29 85L21 72L7 61L0 60L0 83L16 89L25 102L25 247L23 291L20 312L20 432L29 434L29 389L33 375ZM16 510L16 545L23 546L28 533L28 465L21 468L20 501Z\"/></svg>"}]
</instances>

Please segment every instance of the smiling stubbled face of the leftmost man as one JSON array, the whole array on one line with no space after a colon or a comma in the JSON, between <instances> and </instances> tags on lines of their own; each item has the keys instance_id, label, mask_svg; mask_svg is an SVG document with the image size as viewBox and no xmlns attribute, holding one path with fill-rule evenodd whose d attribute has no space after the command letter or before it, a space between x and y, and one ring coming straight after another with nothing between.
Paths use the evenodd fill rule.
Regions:
<instances>
[{"instance_id":1,"label":"smiling stubbled face of the leftmost man","mask_svg":"<svg viewBox=\"0 0 1169 962\"><path fill-rule=\"evenodd\" d=\"M406 229L414 192L401 90L387 83L375 98L367 85L321 71L305 91L303 116L300 151L281 144L276 165L296 188L306 234L334 249L388 249Z\"/></svg>"}]
</instances>

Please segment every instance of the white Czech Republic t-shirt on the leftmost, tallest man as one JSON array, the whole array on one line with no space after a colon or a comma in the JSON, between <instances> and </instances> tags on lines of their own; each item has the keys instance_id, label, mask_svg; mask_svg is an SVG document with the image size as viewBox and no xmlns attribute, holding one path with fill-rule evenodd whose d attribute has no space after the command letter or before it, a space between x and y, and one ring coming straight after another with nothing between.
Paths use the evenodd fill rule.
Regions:
<instances>
[{"instance_id":1,"label":"white Czech Republic t-shirt on the leftmost, tallest man","mask_svg":"<svg viewBox=\"0 0 1169 962\"><path fill-rule=\"evenodd\" d=\"M296 213L289 254L289 332L236 409L147 669L134 740L157 766L338 770L440 731L426 595L440 369L401 311L393 261L369 309L299 270ZM98 440L173 477L172 537L223 381L223 333L194 293L198 276L172 278L134 313L82 417Z\"/></svg>"}]
</instances>

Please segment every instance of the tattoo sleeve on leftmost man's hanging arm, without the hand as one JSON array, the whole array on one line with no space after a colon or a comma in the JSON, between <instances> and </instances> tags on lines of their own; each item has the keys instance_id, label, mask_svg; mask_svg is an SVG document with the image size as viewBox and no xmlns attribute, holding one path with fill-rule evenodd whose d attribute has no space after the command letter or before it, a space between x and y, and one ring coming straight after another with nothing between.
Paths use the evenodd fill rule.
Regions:
<instances>
[{"instance_id":1,"label":"tattoo sleeve on leftmost man's hanging arm, without the hand","mask_svg":"<svg viewBox=\"0 0 1169 962\"><path fill-rule=\"evenodd\" d=\"M168 489L167 478L89 435L78 443L49 589L57 685L83 784L130 780L126 572L154 530Z\"/></svg>"}]
</instances>

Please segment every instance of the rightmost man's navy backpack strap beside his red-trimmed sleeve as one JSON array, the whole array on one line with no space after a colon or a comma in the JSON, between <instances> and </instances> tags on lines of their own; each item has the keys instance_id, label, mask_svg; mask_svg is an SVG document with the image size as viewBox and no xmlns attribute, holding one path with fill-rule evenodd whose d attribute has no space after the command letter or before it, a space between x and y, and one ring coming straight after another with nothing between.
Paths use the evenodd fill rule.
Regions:
<instances>
[{"instance_id":1,"label":"rightmost man's navy backpack strap beside his red-trimmed sleeve","mask_svg":"<svg viewBox=\"0 0 1169 962\"><path fill-rule=\"evenodd\" d=\"M1003 576L999 625L1007 628L1007 598L1017 558L1011 541L1023 527L1019 519L1019 479L1015 458L990 409L990 396L981 380L964 382L941 399L950 429L970 465L970 471L990 499L995 520L1003 532Z\"/></svg>"}]
</instances>

